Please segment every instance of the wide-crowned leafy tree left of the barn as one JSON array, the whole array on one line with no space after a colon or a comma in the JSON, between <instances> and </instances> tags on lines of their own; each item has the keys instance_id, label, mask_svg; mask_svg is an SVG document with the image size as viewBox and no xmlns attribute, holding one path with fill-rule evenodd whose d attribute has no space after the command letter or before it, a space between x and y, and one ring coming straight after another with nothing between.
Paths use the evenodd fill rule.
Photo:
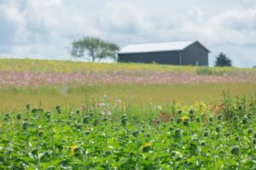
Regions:
<instances>
[{"instance_id":1,"label":"wide-crowned leafy tree left of the barn","mask_svg":"<svg viewBox=\"0 0 256 170\"><path fill-rule=\"evenodd\" d=\"M84 52L87 55L84 56ZM96 59L101 61L102 59L110 58L116 59L119 46L113 42L104 41L99 37L83 37L78 41L72 42L71 54L75 58L91 59L95 62Z\"/></svg>"}]
</instances>

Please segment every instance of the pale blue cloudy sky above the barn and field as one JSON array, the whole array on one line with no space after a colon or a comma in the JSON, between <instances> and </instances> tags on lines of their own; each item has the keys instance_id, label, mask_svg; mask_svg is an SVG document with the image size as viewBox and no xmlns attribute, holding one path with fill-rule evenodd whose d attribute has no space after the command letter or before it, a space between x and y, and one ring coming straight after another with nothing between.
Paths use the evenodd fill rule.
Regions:
<instances>
[{"instance_id":1,"label":"pale blue cloudy sky above the barn and field","mask_svg":"<svg viewBox=\"0 0 256 170\"><path fill-rule=\"evenodd\" d=\"M256 65L256 0L0 0L0 58L72 59L71 42L198 40L237 67Z\"/></svg>"}]
</instances>

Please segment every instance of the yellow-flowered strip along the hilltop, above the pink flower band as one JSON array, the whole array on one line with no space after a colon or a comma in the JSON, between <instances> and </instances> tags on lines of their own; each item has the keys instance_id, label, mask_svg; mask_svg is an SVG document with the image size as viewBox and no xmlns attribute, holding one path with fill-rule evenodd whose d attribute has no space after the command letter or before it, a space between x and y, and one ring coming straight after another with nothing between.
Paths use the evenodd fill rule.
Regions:
<instances>
[{"instance_id":1,"label":"yellow-flowered strip along the hilltop, above the pink flower band","mask_svg":"<svg viewBox=\"0 0 256 170\"><path fill-rule=\"evenodd\" d=\"M24 66L26 65L26 66ZM173 71L192 72L199 75L223 75L224 73L246 72L256 74L255 69L234 67L201 67L135 63L88 63L46 59L0 59L0 71L30 72L108 72L108 71Z\"/></svg>"}]
</instances>

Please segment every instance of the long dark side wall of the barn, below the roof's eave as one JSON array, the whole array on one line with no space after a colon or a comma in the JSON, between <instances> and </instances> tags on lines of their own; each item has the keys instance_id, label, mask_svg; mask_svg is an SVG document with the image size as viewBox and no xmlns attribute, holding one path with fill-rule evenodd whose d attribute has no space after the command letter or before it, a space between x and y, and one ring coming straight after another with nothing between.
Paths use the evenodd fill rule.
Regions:
<instances>
[{"instance_id":1,"label":"long dark side wall of the barn, below the roof's eave","mask_svg":"<svg viewBox=\"0 0 256 170\"><path fill-rule=\"evenodd\" d=\"M177 51L151 52L137 54L119 54L119 62L132 63L159 63L166 65L179 65L179 54Z\"/></svg>"}]
</instances>

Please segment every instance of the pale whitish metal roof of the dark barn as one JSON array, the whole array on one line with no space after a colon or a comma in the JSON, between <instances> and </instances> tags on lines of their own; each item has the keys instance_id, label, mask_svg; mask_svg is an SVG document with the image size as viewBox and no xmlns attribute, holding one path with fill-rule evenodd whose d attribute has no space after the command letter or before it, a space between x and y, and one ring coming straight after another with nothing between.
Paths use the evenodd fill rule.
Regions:
<instances>
[{"instance_id":1,"label":"pale whitish metal roof of the dark barn","mask_svg":"<svg viewBox=\"0 0 256 170\"><path fill-rule=\"evenodd\" d=\"M161 52L161 51L181 51L189 47L191 44L198 41L188 42L160 42L160 43L143 43L131 44L122 48L119 54L133 54L133 53L148 53L148 52ZM205 48L201 42L198 42L202 48ZM205 48L208 52L207 48Z\"/></svg>"}]
</instances>

